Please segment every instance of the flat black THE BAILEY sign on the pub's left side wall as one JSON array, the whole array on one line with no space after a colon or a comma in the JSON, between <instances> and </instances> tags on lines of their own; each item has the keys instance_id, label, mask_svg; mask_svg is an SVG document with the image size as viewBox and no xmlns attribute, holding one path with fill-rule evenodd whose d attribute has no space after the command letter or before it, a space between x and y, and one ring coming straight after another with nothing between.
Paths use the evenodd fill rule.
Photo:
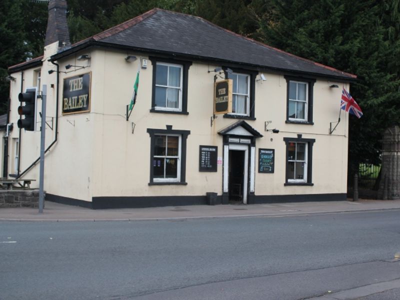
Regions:
<instances>
[{"instance_id":1,"label":"flat black THE BAILEY sign on the pub's left side wall","mask_svg":"<svg viewBox=\"0 0 400 300\"><path fill-rule=\"evenodd\" d=\"M84 73L64 78L62 114L90 111L90 76Z\"/></svg>"}]
</instances>

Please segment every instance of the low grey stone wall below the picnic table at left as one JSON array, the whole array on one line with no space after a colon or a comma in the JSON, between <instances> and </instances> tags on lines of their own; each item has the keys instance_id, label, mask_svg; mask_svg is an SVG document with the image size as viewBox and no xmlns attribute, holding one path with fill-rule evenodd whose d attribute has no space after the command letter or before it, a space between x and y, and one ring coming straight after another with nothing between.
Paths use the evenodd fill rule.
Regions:
<instances>
[{"instance_id":1,"label":"low grey stone wall below the picnic table at left","mask_svg":"<svg viewBox=\"0 0 400 300\"><path fill-rule=\"evenodd\" d=\"M0 190L0 208L2 207L38 207L38 189Z\"/></svg>"}]
</instances>

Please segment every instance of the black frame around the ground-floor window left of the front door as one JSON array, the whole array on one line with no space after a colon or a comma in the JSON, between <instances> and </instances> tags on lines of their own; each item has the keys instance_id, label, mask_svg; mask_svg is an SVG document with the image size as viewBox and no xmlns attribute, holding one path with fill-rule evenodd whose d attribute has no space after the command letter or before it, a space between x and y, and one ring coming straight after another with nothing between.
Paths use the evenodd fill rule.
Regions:
<instances>
[{"instance_id":1,"label":"black frame around the ground-floor window left of the front door","mask_svg":"<svg viewBox=\"0 0 400 300\"><path fill-rule=\"evenodd\" d=\"M174 130L172 125L166 125L166 129L147 128L150 135L150 179L148 185L186 185L186 139L190 130ZM155 135L180 135L180 180L179 181L154 181L153 178L153 156Z\"/></svg>"}]
</instances>

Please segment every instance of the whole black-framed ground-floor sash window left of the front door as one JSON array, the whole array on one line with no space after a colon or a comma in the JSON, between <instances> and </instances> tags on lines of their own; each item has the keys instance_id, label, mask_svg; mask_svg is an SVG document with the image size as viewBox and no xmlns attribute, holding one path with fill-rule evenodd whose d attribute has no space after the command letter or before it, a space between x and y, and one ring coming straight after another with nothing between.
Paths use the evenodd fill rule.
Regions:
<instances>
[{"instance_id":1,"label":"whole black-framed ground-floor sash window left of the front door","mask_svg":"<svg viewBox=\"0 0 400 300\"><path fill-rule=\"evenodd\" d=\"M148 128L150 134L150 185L186 184L186 139L189 130Z\"/></svg>"}]
</instances>

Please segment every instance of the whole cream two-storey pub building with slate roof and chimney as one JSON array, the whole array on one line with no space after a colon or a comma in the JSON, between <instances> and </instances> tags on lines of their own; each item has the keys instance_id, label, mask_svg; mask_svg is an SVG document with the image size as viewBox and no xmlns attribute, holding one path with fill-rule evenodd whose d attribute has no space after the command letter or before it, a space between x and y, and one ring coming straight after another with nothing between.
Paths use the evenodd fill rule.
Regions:
<instances>
[{"instance_id":1,"label":"whole cream two-storey pub building with slate roof and chimney","mask_svg":"<svg viewBox=\"0 0 400 300\"><path fill-rule=\"evenodd\" d=\"M66 1L48 4L43 55L9 74L7 176L36 179L18 94L46 86L46 200L90 208L344 200L356 76L154 8L70 44ZM335 124L335 123L334 123ZM4 164L4 163L3 163ZM3 166L4 168L4 166ZM215 197L216 194L216 197Z\"/></svg>"}]
</instances>

